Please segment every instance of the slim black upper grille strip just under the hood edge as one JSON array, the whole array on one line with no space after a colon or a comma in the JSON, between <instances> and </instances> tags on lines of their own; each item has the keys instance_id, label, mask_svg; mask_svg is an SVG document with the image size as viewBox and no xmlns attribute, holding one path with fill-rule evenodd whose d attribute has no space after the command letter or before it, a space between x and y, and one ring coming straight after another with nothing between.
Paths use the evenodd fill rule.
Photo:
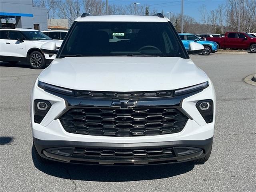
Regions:
<instances>
[{"instance_id":1,"label":"slim black upper grille strip just under the hood edge","mask_svg":"<svg viewBox=\"0 0 256 192\"><path fill-rule=\"evenodd\" d=\"M94 97L94 98L152 98L152 97L170 97L172 90L165 91L142 91L142 92L102 92L102 91L82 91L76 90L78 97Z\"/></svg>"}]
</instances>

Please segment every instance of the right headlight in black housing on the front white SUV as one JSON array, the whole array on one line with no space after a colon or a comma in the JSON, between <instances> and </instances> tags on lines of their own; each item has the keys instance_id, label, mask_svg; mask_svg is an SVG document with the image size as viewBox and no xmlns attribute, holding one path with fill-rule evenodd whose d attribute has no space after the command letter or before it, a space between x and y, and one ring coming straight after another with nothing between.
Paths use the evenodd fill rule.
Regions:
<instances>
[{"instance_id":1,"label":"right headlight in black housing on the front white SUV","mask_svg":"<svg viewBox=\"0 0 256 192\"><path fill-rule=\"evenodd\" d=\"M213 121L213 102L212 100L201 100L196 103L196 108L204 118L206 123Z\"/></svg>"}]
</instances>

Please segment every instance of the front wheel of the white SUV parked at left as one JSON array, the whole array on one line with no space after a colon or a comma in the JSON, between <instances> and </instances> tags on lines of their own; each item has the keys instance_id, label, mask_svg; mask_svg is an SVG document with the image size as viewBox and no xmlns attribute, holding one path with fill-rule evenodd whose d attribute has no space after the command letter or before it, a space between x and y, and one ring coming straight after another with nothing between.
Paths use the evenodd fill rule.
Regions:
<instances>
[{"instance_id":1,"label":"front wheel of the white SUV parked at left","mask_svg":"<svg viewBox=\"0 0 256 192\"><path fill-rule=\"evenodd\" d=\"M28 62L32 69L42 69L45 67L45 59L41 52L33 51L28 57Z\"/></svg>"}]
</instances>

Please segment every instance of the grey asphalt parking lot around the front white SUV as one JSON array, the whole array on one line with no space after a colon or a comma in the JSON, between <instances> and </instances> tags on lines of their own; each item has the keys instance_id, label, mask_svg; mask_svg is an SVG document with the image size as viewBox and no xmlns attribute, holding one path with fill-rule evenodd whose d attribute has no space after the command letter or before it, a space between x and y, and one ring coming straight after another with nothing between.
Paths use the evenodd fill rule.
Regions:
<instances>
[{"instance_id":1,"label":"grey asphalt parking lot around the front white SUV","mask_svg":"<svg viewBox=\"0 0 256 192\"><path fill-rule=\"evenodd\" d=\"M0 191L255 191L256 54L191 56L214 83L213 151L204 165L42 165L32 152L30 91L41 70L0 63Z\"/></svg>"}]
</instances>

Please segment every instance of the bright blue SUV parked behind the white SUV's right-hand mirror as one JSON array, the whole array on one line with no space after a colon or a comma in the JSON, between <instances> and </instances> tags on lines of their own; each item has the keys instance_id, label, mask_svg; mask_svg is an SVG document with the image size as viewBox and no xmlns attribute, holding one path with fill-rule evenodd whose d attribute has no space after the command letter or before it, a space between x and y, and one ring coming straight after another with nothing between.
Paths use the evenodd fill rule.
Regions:
<instances>
[{"instance_id":1,"label":"bright blue SUV parked behind the white SUV's right-hand mirror","mask_svg":"<svg viewBox=\"0 0 256 192\"><path fill-rule=\"evenodd\" d=\"M186 50L188 50L189 43L197 42L204 46L204 51L202 52L203 55L209 55L210 53L215 53L218 51L218 44L216 42L204 41L191 33L180 33L179 36Z\"/></svg>"}]
</instances>

